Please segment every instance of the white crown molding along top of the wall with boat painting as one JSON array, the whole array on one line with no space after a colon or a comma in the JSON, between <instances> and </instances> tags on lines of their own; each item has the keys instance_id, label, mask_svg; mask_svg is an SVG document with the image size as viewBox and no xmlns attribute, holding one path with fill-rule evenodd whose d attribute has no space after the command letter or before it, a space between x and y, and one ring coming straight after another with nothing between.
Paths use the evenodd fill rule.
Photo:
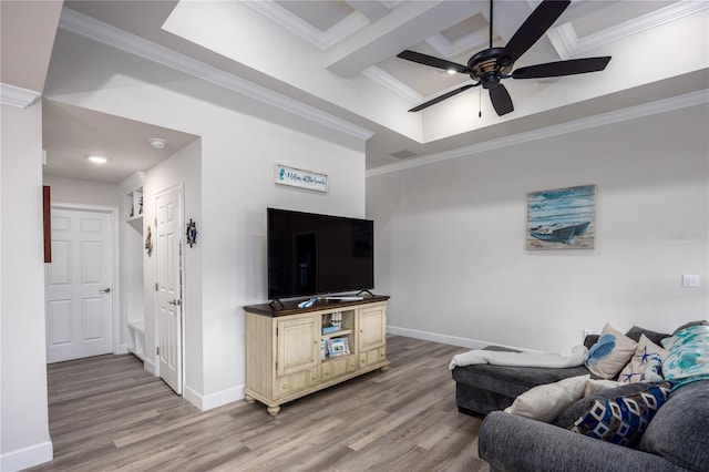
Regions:
<instances>
[{"instance_id":1,"label":"white crown molding along top of the wall with boat painting","mask_svg":"<svg viewBox=\"0 0 709 472\"><path fill-rule=\"evenodd\" d=\"M441 153L423 155L421 157L410 158L400 163L383 165L367 171L367 177L373 177L382 174L403 171L405 168L418 167L421 165L433 164L436 162L449 161L459 157L470 157L486 151L500 150L516 144L524 144L532 141L544 140L547 137L559 136L563 134L575 133L577 131L590 130L607 124L620 123L644 116L650 116L658 113L666 113L674 110L681 110L689 106L709 103L709 89L700 90L684 95L672 96L670 99L658 100L656 102L645 103L643 105L630 106L624 110L602 113L568 123L554 126L547 126L540 130L527 131L524 133L513 134L510 136L499 137L482 143L475 143L470 146L463 146Z\"/></svg>"}]
</instances>

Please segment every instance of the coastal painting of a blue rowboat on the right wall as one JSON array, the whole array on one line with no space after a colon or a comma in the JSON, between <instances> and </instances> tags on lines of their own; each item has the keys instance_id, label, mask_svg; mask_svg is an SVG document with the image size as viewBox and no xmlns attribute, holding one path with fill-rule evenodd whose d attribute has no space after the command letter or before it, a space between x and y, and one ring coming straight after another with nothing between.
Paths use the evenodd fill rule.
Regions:
<instances>
[{"instance_id":1,"label":"coastal painting of a blue rowboat on the right wall","mask_svg":"<svg viewBox=\"0 0 709 472\"><path fill-rule=\"evenodd\" d=\"M595 185L527 194L528 250L593 249L595 243Z\"/></svg>"}]
</instances>

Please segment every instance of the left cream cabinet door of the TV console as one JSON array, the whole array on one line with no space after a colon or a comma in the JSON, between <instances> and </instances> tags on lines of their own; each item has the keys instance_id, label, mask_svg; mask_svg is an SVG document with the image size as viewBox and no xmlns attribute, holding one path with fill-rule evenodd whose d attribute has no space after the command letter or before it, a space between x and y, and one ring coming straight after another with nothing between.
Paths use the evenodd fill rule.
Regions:
<instances>
[{"instance_id":1,"label":"left cream cabinet door of the TV console","mask_svg":"<svg viewBox=\"0 0 709 472\"><path fill-rule=\"evenodd\" d=\"M316 368L320 362L319 317L278 320L278 369L290 376Z\"/></svg>"}]
</instances>

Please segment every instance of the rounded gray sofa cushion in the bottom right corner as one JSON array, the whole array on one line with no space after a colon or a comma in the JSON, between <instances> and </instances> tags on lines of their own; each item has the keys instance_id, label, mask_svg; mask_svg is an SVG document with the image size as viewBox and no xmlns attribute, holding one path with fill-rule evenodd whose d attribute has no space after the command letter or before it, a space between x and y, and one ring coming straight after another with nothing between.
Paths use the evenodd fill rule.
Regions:
<instances>
[{"instance_id":1,"label":"rounded gray sofa cushion in the bottom right corner","mask_svg":"<svg viewBox=\"0 0 709 472\"><path fill-rule=\"evenodd\" d=\"M638 449L658 454L676 465L709 471L709 380L687 383L672 391L660 408Z\"/></svg>"}]
</instances>

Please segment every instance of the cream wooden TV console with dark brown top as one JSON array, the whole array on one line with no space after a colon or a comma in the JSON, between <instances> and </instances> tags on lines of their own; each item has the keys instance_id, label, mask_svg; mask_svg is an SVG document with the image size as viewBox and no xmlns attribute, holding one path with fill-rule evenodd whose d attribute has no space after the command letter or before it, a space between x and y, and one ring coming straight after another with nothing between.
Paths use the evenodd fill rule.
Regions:
<instances>
[{"instance_id":1,"label":"cream wooden TV console with dark brown top","mask_svg":"<svg viewBox=\"0 0 709 472\"><path fill-rule=\"evenodd\" d=\"M280 406L376 369L387 370L387 296L353 301L297 301L244 307L246 401ZM341 314L332 331L330 319ZM323 332L323 329L326 332ZM325 353L322 346L330 345Z\"/></svg>"}]
</instances>

